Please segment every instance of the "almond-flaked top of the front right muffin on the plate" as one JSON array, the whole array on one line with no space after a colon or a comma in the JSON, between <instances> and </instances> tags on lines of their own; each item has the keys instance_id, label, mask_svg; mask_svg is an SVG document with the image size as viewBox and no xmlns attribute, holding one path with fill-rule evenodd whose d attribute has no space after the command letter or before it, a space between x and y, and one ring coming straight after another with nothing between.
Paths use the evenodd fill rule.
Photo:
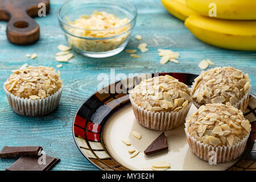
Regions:
<instances>
[{"instance_id":1,"label":"almond-flaked top of the front right muffin on the plate","mask_svg":"<svg viewBox=\"0 0 256 182\"><path fill-rule=\"evenodd\" d=\"M229 102L201 106L186 123L191 137L212 146L232 146L246 137L251 129L242 111Z\"/></svg>"}]
</instances>

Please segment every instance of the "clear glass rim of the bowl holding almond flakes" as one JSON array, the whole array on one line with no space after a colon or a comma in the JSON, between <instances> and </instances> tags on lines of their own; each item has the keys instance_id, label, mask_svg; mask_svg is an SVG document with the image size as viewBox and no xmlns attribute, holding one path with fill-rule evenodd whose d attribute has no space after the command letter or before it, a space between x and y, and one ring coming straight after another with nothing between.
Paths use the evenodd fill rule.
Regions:
<instances>
[{"instance_id":1,"label":"clear glass rim of the bowl holding almond flakes","mask_svg":"<svg viewBox=\"0 0 256 182\"><path fill-rule=\"evenodd\" d=\"M57 17L58 17L58 19L59 19L59 21L60 21L61 23L65 24L65 26L68 26L68 27L71 27L71 28L76 28L76 29L79 29L79 30L85 30L85 31L109 31L109 30L115 30L115 29L122 28L122 27L125 27L125 26L127 26L127 25L133 23L134 20L137 18L137 15L138 15L138 11L137 11L136 6L134 6L134 5L133 5L132 3L130 3L129 1L126 1L126 0L119 0L119 1L126 2L127 4L129 4L130 6L132 6L132 7L134 8L134 10L135 10L135 15L133 16L133 18L132 18L128 23L123 24L122 26L119 26L119 27L105 28L105 29L85 29L85 28L74 27L74 26L72 26L72 25L70 25L70 24L64 22L63 18L60 17L60 11L61 11L61 9L63 9L63 7L64 7L65 5L67 5L67 3L70 3L70 2L72 2L72 1L78 1L78 0L68 0L68 1L64 2L63 5L61 5L61 6L59 7L59 10L57 10ZM81 1L81 0L80 0L80 1ZM84 0L82 0L82 1L84 1ZM85 0L85 1L86 1L86 0ZM99 0L98 0L98 1L99 1ZM119 6L119 7L121 7L121 6ZM123 8L121 7L121 9L123 9Z\"/></svg>"}]
</instances>

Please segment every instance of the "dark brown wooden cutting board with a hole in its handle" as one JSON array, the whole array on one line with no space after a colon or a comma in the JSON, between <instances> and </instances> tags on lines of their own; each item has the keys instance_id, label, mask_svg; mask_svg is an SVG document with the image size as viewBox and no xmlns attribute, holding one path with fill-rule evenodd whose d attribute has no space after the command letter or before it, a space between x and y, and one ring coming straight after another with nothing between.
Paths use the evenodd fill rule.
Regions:
<instances>
[{"instance_id":1,"label":"dark brown wooden cutting board with a hole in its handle","mask_svg":"<svg viewBox=\"0 0 256 182\"><path fill-rule=\"evenodd\" d=\"M9 21L6 28L7 38L14 44L31 44L40 36L38 23L31 17L38 16L44 3L49 12L49 0L0 0L0 20Z\"/></svg>"}]
</instances>

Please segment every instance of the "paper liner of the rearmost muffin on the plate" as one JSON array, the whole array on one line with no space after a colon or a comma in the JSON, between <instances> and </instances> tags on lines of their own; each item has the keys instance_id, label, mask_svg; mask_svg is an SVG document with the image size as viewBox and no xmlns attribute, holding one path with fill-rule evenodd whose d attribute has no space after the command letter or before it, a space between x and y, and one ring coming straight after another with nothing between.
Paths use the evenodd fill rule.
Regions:
<instances>
[{"instance_id":1,"label":"paper liner of the rearmost muffin on the plate","mask_svg":"<svg viewBox=\"0 0 256 182\"><path fill-rule=\"evenodd\" d=\"M192 89L194 86L195 86L195 82L193 82L193 84L192 84ZM233 106L236 107L237 109L241 110L242 112L244 112L249 104L250 92L251 92L251 85L250 85L249 89L246 91L245 95L241 98L241 100L238 101ZM198 104L195 100L193 100L193 98L192 98L192 102L197 107L197 109L199 109L199 107L201 105Z\"/></svg>"}]
</instances>

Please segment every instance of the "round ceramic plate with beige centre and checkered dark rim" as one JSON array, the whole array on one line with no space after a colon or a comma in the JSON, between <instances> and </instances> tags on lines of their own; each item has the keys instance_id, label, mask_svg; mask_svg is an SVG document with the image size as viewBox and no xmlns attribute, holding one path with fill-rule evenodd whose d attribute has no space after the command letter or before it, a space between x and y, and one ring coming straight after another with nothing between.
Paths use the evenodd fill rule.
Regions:
<instances>
[{"instance_id":1,"label":"round ceramic plate with beige centre and checkered dark rim","mask_svg":"<svg viewBox=\"0 0 256 182\"><path fill-rule=\"evenodd\" d=\"M197 77L188 73L140 75L115 82L93 94L81 105L73 120L73 137L82 155L94 166L106 171L142 170L160 161L171 164L168 170L256 170L256 97L253 94L245 111L252 130L241 158L217 165L197 158L189 149L184 125L164 132L168 151L144 155L143 151L162 132L148 130L138 124L127 93L142 80L161 75L171 75L189 86ZM192 105L188 115L195 111L196 107ZM133 130L141 133L140 140L131 136ZM121 139L129 139L132 145L126 146ZM132 159L128 152L131 147L141 151Z\"/></svg>"}]
</instances>

